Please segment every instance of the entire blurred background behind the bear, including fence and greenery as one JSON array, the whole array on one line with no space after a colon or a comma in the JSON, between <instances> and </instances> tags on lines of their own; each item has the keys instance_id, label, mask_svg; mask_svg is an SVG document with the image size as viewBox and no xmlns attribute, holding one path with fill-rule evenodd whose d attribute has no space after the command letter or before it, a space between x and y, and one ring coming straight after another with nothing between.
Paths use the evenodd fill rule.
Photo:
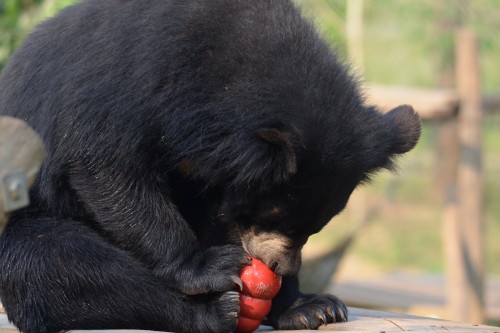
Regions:
<instances>
[{"instance_id":1,"label":"entire blurred background behind the bear, including fence and greenery","mask_svg":"<svg viewBox=\"0 0 500 333\"><path fill-rule=\"evenodd\" d=\"M0 68L73 2L0 0ZM500 325L500 1L296 3L369 100L414 103L424 118L397 172L358 189L312 237L304 288L352 306Z\"/></svg>"}]
</instances>

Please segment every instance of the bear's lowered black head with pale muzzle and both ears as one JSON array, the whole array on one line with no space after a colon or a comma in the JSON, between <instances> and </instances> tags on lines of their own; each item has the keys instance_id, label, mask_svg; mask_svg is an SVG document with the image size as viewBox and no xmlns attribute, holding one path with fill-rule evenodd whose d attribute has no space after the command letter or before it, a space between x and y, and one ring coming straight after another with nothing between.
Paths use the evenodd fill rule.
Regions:
<instances>
[{"instance_id":1,"label":"bear's lowered black head with pale muzzle and both ears","mask_svg":"<svg viewBox=\"0 0 500 333\"><path fill-rule=\"evenodd\" d=\"M297 274L309 236L342 211L358 184L392 169L420 136L420 118L407 105L386 114L366 107L351 116L300 129L258 129L260 152L272 163L248 169L251 185L226 191L219 217L237 228L233 234L251 256L278 274Z\"/></svg>"}]
</instances>

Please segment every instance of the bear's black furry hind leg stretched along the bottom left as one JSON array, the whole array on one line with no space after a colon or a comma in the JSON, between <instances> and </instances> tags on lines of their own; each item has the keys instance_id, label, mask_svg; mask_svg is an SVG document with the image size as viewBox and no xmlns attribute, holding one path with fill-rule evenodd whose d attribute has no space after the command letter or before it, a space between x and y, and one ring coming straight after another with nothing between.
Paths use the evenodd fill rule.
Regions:
<instances>
[{"instance_id":1,"label":"bear's black furry hind leg stretched along the bottom left","mask_svg":"<svg viewBox=\"0 0 500 333\"><path fill-rule=\"evenodd\" d=\"M188 297L73 220L14 216L0 239L0 292L24 333L69 329L229 332L237 292Z\"/></svg>"}]
</instances>

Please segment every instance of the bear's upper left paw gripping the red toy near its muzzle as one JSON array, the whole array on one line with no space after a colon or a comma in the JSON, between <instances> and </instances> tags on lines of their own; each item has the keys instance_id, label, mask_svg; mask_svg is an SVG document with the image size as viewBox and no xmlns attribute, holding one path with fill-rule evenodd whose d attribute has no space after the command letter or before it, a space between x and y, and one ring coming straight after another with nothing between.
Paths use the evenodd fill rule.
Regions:
<instances>
[{"instance_id":1,"label":"bear's upper left paw gripping the red toy near its muzzle","mask_svg":"<svg viewBox=\"0 0 500 333\"><path fill-rule=\"evenodd\" d=\"M210 247L191 266L190 279L181 281L181 291L187 295L225 292L241 289L239 273L250 265L250 257L236 245Z\"/></svg>"}]
</instances>

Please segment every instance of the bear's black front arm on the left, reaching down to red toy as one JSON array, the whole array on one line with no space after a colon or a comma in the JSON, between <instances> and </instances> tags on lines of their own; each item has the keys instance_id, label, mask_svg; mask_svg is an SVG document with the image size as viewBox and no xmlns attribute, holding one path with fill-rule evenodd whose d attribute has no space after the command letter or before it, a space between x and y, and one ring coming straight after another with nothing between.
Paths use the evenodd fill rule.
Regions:
<instances>
[{"instance_id":1,"label":"bear's black front arm on the left, reaching down to red toy","mask_svg":"<svg viewBox=\"0 0 500 333\"><path fill-rule=\"evenodd\" d=\"M234 289L239 270L248 264L243 250L201 248L170 200L168 184L137 156L129 157L135 163L102 157L72 168L71 187L106 238L185 294Z\"/></svg>"}]
</instances>

